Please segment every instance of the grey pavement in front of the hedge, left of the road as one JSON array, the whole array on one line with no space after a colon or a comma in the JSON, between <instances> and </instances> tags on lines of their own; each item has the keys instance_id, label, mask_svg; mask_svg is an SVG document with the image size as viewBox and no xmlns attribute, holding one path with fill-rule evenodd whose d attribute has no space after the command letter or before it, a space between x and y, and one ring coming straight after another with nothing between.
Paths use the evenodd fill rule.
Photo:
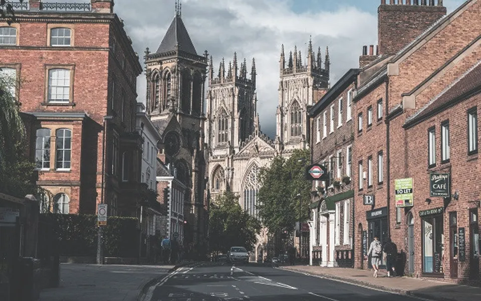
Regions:
<instances>
[{"instance_id":1,"label":"grey pavement in front of the hedge, left of the road","mask_svg":"<svg viewBox=\"0 0 481 301\"><path fill-rule=\"evenodd\" d=\"M173 265L97 265L62 263L60 287L40 292L40 301L136 301L144 286Z\"/></svg>"}]
</instances>

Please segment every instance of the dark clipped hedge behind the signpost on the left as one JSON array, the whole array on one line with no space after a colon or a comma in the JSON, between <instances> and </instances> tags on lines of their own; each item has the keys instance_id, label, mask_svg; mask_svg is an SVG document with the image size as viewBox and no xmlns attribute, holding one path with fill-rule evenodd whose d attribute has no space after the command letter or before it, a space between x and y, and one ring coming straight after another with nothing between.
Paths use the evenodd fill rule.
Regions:
<instances>
[{"instance_id":1,"label":"dark clipped hedge behind the signpost on the left","mask_svg":"<svg viewBox=\"0 0 481 301\"><path fill-rule=\"evenodd\" d=\"M41 214L41 222L50 224L61 256L95 256L97 254L97 216L76 214ZM104 256L137 257L138 219L108 217L104 228Z\"/></svg>"}]
</instances>

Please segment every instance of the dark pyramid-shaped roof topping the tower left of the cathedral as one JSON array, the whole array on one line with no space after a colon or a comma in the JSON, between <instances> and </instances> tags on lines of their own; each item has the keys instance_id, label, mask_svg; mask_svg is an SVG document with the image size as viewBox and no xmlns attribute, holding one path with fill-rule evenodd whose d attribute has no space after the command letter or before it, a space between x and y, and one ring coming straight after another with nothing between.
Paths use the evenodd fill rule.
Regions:
<instances>
[{"instance_id":1,"label":"dark pyramid-shaped roof topping the tower left of the cathedral","mask_svg":"<svg viewBox=\"0 0 481 301\"><path fill-rule=\"evenodd\" d=\"M175 51L177 44L179 45L179 50L197 55L182 18L178 15L172 20L167 33L157 49L157 53Z\"/></svg>"}]
</instances>

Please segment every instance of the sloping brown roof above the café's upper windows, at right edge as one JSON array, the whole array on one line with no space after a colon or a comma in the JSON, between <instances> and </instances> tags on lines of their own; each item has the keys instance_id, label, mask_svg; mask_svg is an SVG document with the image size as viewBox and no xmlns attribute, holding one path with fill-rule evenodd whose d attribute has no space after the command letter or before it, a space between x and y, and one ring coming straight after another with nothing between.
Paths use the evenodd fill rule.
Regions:
<instances>
[{"instance_id":1,"label":"sloping brown roof above the caf\u00e9's upper windows, at right edge","mask_svg":"<svg viewBox=\"0 0 481 301\"><path fill-rule=\"evenodd\" d=\"M481 93L481 60L452 82L439 95L431 99L425 107L408 118L404 126L414 125L418 121L446 108L451 103L454 104L477 93Z\"/></svg>"}]
</instances>

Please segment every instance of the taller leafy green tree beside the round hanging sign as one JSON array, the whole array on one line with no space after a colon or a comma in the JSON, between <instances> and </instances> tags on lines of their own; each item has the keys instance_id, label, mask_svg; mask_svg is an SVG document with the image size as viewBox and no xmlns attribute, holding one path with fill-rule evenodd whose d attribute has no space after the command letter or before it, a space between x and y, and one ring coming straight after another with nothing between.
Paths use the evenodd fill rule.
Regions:
<instances>
[{"instance_id":1,"label":"taller leafy green tree beside the round hanging sign","mask_svg":"<svg viewBox=\"0 0 481 301\"><path fill-rule=\"evenodd\" d=\"M293 231L299 216L301 221L309 219L312 182L305 179L305 168L310 162L308 149L296 149L288 160L278 156L261 169L259 209L271 233Z\"/></svg>"}]
</instances>

